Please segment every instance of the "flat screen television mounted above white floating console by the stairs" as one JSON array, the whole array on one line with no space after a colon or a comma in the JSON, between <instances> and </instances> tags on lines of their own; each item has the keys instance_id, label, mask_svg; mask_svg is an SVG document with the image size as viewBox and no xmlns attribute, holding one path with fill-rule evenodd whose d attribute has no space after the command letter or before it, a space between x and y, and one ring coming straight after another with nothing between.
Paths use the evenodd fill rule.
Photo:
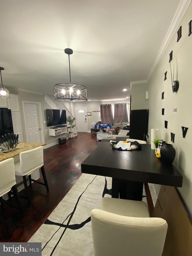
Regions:
<instances>
[{"instance_id":1,"label":"flat screen television mounted above white floating console by the stairs","mask_svg":"<svg viewBox=\"0 0 192 256\"><path fill-rule=\"evenodd\" d=\"M46 109L47 126L67 124L66 110Z\"/></svg>"}]
</instances>

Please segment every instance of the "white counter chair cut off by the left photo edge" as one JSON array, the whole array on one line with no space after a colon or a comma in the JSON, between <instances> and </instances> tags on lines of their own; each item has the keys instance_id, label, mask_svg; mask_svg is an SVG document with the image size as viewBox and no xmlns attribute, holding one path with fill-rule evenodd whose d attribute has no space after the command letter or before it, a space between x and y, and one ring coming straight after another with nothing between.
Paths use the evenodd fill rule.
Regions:
<instances>
[{"instance_id":1,"label":"white counter chair cut off by the left photo edge","mask_svg":"<svg viewBox=\"0 0 192 256\"><path fill-rule=\"evenodd\" d=\"M2 196L7 194L9 191L13 191L13 195L16 200L16 207L22 211L19 194L17 191L14 160L13 158L6 159L0 162L0 203L1 209L4 213L4 200Z\"/></svg>"}]
</instances>

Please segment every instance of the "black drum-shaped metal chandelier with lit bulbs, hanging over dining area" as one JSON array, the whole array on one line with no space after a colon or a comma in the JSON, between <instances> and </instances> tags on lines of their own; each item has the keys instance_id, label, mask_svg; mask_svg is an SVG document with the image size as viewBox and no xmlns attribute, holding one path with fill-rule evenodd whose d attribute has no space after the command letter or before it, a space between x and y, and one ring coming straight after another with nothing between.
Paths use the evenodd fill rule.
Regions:
<instances>
[{"instance_id":1,"label":"black drum-shaped metal chandelier with lit bulbs, hanging over dining area","mask_svg":"<svg viewBox=\"0 0 192 256\"><path fill-rule=\"evenodd\" d=\"M73 50L64 50L68 56L73 54ZM80 84L71 83L70 57L69 57L70 83L57 83L54 85L55 101L87 101L87 87Z\"/></svg>"}]
</instances>

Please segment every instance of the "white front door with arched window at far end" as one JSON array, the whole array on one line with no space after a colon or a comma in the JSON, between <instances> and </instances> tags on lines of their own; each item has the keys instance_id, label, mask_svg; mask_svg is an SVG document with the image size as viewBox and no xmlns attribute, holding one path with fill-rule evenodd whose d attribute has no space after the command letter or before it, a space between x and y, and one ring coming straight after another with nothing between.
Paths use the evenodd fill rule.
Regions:
<instances>
[{"instance_id":1,"label":"white front door with arched window at far end","mask_svg":"<svg viewBox=\"0 0 192 256\"><path fill-rule=\"evenodd\" d=\"M77 132L87 132L86 107L76 107L76 130Z\"/></svg>"}]
</instances>

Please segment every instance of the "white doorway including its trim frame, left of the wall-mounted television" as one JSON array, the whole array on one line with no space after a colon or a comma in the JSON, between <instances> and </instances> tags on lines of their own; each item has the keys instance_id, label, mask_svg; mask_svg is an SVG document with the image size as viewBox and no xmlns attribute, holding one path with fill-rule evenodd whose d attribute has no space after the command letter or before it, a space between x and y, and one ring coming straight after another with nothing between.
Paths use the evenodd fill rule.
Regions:
<instances>
[{"instance_id":1,"label":"white doorway including its trim frame, left of the wall-mounted television","mask_svg":"<svg viewBox=\"0 0 192 256\"><path fill-rule=\"evenodd\" d=\"M22 104L27 141L44 143L41 103L22 101Z\"/></svg>"}]
</instances>

